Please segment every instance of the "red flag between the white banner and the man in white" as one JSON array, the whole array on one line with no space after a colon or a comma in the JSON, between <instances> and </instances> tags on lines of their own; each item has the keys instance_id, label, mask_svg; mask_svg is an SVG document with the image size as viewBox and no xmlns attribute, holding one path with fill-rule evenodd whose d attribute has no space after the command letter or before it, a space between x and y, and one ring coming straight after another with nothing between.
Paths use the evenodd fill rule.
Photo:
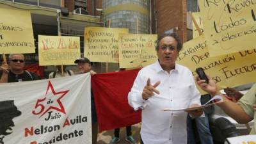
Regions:
<instances>
[{"instance_id":1,"label":"red flag between the white banner and the man in white","mask_svg":"<svg viewBox=\"0 0 256 144\"><path fill-rule=\"evenodd\" d=\"M100 132L141 122L141 111L134 111L128 104L128 93L138 71L109 72L92 77Z\"/></svg>"}]
</instances>

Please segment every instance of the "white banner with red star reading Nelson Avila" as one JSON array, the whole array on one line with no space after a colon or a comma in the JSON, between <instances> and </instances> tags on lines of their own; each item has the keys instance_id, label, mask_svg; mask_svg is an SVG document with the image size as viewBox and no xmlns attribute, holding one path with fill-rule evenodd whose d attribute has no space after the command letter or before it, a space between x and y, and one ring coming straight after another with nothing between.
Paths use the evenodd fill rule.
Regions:
<instances>
[{"instance_id":1,"label":"white banner with red star reading Nelson Avila","mask_svg":"<svg viewBox=\"0 0 256 144\"><path fill-rule=\"evenodd\" d=\"M0 144L91 144L91 76L0 84Z\"/></svg>"}]
</instances>

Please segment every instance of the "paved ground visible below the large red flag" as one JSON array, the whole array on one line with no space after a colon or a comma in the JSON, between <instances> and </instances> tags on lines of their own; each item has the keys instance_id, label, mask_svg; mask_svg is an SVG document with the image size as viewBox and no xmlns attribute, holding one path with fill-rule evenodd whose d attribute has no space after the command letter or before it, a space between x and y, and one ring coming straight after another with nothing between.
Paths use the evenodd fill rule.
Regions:
<instances>
[{"instance_id":1,"label":"paved ground visible below the large red flag","mask_svg":"<svg viewBox=\"0 0 256 144\"><path fill-rule=\"evenodd\" d=\"M114 134L114 131L103 131L100 134L98 134L98 143L97 144L108 144L109 141L112 139ZM134 140L137 141L137 143L140 143L140 124L132 125L132 136ZM120 141L118 144L128 144L127 141L125 141L126 137L126 130L125 127L122 127L120 129Z\"/></svg>"}]
</instances>

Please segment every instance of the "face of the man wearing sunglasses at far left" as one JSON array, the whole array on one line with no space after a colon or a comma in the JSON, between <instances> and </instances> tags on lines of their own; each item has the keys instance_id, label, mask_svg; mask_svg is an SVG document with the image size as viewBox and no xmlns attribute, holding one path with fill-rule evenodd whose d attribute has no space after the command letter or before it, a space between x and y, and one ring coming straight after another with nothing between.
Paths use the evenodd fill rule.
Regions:
<instances>
[{"instance_id":1,"label":"face of the man wearing sunglasses at far left","mask_svg":"<svg viewBox=\"0 0 256 144\"><path fill-rule=\"evenodd\" d=\"M13 70L22 70L24 68L24 56L13 55L10 58L10 68Z\"/></svg>"}]
</instances>

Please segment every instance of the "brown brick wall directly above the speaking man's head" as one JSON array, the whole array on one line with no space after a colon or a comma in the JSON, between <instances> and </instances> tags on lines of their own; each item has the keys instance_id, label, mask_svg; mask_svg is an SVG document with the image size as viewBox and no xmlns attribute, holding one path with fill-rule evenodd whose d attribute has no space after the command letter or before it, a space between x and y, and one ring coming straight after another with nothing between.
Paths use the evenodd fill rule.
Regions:
<instances>
[{"instance_id":1,"label":"brown brick wall directly above the speaking man's head","mask_svg":"<svg viewBox=\"0 0 256 144\"><path fill-rule=\"evenodd\" d=\"M182 42L187 40L187 1L152 0L152 31L157 35L178 33Z\"/></svg>"}]
</instances>

